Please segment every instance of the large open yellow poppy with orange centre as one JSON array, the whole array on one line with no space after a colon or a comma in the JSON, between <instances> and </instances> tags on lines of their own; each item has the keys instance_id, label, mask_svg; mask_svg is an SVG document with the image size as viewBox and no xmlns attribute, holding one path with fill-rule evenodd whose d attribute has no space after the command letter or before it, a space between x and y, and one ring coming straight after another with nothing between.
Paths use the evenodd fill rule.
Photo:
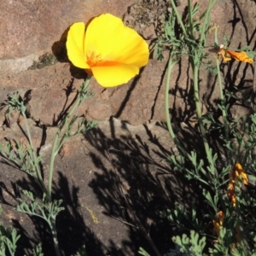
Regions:
<instances>
[{"instance_id":1,"label":"large open yellow poppy with orange centre","mask_svg":"<svg viewBox=\"0 0 256 256\"><path fill-rule=\"evenodd\" d=\"M127 83L148 63L146 41L110 14L100 15L88 25L74 23L66 45L73 65L84 68L104 87Z\"/></svg>"}]
</instances>

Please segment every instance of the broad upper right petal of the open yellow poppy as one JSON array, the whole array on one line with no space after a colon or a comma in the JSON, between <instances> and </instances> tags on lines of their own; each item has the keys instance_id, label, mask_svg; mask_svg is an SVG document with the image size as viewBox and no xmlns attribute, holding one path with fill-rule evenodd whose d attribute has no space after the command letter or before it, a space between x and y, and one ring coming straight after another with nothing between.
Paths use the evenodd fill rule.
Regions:
<instances>
[{"instance_id":1,"label":"broad upper right petal of the open yellow poppy","mask_svg":"<svg viewBox=\"0 0 256 256\"><path fill-rule=\"evenodd\" d=\"M91 20L85 37L85 51L101 55L105 65L108 61L137 67L148 63L148 44L118 17L105 14Z\"/></svg>"}]
</instances>

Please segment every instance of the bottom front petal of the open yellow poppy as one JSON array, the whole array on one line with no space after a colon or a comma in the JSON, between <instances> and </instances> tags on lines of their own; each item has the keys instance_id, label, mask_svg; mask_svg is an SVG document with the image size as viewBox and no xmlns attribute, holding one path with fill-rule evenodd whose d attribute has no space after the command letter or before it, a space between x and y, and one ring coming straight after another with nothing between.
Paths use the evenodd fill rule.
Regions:
<instances>
[{"instance_id":1,"label":"bottom front petal of the open yellow poppy","mask_svg":"<svg viewBox=\"0 0 256 256\"><path fill-rule=\"evenodd\" d=\"M139 68L131 65L91 67L98 84L103 87L113 87L127 83L139 73Z\"/></svg>"}]
</instances>

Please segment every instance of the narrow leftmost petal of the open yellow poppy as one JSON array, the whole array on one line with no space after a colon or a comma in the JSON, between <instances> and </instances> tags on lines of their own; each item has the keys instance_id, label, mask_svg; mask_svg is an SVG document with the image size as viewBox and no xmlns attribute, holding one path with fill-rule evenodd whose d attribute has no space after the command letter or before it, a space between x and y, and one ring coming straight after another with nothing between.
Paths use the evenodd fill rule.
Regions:
<instances>
[{"instance_id":1,"label":"narrow leftmost petal of the open yellow poppy","mask_svg":"<svg viewBox=\"0 0 256 256\"><path fill-rule=\"evenodd\" d=\"M89 68L84 55L84 22L76 22L70 26L67 33L67 56L74 66Z\"/></svg>"}]
</instances>

